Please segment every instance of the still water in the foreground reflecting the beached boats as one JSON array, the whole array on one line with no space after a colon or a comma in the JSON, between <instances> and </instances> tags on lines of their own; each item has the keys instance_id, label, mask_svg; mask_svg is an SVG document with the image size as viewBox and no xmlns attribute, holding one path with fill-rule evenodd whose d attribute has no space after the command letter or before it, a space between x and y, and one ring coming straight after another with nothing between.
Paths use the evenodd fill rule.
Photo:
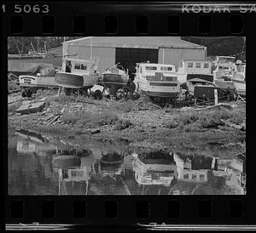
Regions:
<instances>
[{"instance_id":1,"label":"still water in the foreground reflecting the beached boats","mask_svg":"<svg viewBox=\"0 0 256 233\"><path fill-rule=\"evenodd\" d=\"M172 151L137 150L127 141L119 141L119 148L103 142L100 145L68 145L40 134L10 129L9 195L246 193L242 154L221 160Z\"/></svg>"}]
</instances>

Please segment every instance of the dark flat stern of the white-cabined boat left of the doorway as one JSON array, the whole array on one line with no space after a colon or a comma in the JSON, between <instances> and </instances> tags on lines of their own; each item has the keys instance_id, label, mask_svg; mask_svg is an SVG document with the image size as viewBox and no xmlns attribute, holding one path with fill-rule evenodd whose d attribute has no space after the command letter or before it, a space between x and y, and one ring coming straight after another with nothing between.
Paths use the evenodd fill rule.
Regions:
<instances>
[{"instance_id":1,"label":"dark flat stern of the white-cabined boat left of the doorway","mask_svg":"<svg viewBox=\"0 0 256 233\"><path fill-rule=\"evenodd\" d=\"M55 74L55 83L62 88L83 88L84 77L72 73L58 72Z\"/></svg>"}]
</instances>

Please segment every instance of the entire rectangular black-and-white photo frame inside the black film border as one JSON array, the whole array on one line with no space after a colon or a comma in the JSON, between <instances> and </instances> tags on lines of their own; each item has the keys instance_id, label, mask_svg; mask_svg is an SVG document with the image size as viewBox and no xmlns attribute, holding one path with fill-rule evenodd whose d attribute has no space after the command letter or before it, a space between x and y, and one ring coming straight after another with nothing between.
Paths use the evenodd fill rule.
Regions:
<instances>
[{"instance_id":1,"label":"entire rectangular black-and-white photo frame inside the black film border","mask_svg":"<svg viewBox=\"0 0 256 233\"><path fill-rule=\"evenodd\" d=\"M245 195L246 37L8 37L10 196Z\"/></svg>"}]
</instances>

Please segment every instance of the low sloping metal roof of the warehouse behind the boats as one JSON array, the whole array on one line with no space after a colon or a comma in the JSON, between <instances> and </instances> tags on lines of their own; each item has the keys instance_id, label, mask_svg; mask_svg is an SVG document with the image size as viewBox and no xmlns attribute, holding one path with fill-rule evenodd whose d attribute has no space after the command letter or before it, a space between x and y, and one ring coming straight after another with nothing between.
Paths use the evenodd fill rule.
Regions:
<instances>
[{"instance_id":1,"label":"low sloping metal roof of the warehouse behind the boats","mask_svg":"<svg viewBox=\"0 0 256 233\"><path fill-rule=\"evenodd\" d=\"M71 46L121 47L121 48L206 48L178 37L84 37L64 42Z\"/></svg>"}]
</instances>

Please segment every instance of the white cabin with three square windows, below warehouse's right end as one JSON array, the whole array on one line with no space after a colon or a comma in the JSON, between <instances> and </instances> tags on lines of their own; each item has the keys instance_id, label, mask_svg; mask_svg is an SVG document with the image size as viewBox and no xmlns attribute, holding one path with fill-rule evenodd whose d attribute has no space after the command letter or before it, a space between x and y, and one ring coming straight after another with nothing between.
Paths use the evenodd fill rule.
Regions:
<instances>
[{"instance_id":1,"label":"white cabin with three square windows, below warehouse's right end","mask_svg":"<svg viewBox=\"0 0 256 233\"><path fill-rule=\"evenodd\" d=\"M212 74L212 61L210 60L180 60L177 73L179 74Z\"/></svg>"}]
</instances>

